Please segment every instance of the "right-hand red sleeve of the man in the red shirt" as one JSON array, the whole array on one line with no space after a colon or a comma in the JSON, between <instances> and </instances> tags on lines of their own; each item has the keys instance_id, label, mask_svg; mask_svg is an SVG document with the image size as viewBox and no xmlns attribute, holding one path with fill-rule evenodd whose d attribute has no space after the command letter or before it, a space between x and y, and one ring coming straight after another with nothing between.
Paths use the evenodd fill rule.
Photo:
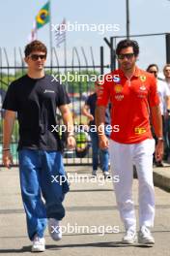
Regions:
<instances>
[{"instance_id":1,"label":"right-hand red sleeve of the man in the red shirt","mask_svg":"<svg viewBox=\"0 0 170 256\"><path fill-rule=\"evenodd\" d=\"M149 104L150 107L155 107L159 105L159 97L157 93L156 79L154 77L150 78L150 91L149 91Z\"/></svg>"}]
</instances>

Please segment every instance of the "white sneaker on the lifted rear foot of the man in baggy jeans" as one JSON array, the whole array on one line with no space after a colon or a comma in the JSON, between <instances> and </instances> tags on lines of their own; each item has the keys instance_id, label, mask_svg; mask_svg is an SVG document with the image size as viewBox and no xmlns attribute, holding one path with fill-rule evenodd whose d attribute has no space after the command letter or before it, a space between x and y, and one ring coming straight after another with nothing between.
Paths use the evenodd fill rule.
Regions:
<instances>
[{"instance_id":1,"label":"white sneaker on the lifted rear foot of the man in baggy jeans","mask_svg":"<svg viewBox=\"0 0 170 256\"><path fill-rule=\"evenodd\" d=\"M53 240L62 239L62 231L59 226L59 221L54 218L48 219L48 232Z\"/></svg>"}]
</instances>

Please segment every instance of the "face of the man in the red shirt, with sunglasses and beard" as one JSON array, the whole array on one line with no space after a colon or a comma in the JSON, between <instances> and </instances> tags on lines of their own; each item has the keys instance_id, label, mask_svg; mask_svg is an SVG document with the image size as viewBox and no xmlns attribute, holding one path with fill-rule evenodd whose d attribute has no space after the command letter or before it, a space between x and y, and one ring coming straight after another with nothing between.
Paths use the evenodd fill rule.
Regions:
<instances>
[{"instance_id":1,"label":"face of the man in the red shirt, with sunglasses and beard","mask_svg":"<svg viewBox=\"0 0 170 256\"><path fill-rule=\"evenodd\" d=\"M125 71L128 71L135 66L136 59L137 57L134 56L132 47L123 48L118 55L118 62L120 68Z\"/></svg>"}]
</instances>

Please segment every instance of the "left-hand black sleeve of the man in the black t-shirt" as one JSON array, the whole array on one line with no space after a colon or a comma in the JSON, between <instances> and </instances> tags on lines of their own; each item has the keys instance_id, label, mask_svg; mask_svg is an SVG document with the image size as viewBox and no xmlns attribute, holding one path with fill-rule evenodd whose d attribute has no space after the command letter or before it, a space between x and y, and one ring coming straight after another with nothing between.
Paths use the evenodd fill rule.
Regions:
<instances>
[{"instance_id":1,"label":"left-hand black sleeve of the man in the black t-shirt","mask_svg":"<svg viewBox=\"0 0 170 256\"><path fill-rule=\"evenodd\" d=\"M17 112L16 87L12 82L7 90L2 109Z\"/></svg>"}]
</instances>

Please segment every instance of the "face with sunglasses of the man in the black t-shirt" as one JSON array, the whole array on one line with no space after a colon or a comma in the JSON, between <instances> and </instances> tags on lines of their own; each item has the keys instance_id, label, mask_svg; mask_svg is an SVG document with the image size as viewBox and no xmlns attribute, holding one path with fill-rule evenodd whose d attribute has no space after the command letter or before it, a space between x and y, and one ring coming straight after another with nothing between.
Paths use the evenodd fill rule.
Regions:
<instances>
[{"instance_id":1,"label":"face with sunglasses of the man in the black t-shirt","mask_svg":"<svg viewBox=\"0 0 170 256\"><path fill-rule=\"evenodd\" d=\"M34 71L41 71L46 60L45 52L32 51L29 56L25 57L28 67Z\"/></svg>"}]
</instances>

